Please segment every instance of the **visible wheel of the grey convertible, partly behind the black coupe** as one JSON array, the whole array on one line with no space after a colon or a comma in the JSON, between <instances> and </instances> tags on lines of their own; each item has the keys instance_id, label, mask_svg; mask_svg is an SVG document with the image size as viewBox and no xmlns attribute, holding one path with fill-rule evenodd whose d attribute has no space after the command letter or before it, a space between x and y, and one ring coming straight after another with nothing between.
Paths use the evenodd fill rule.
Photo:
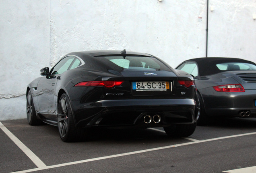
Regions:
<instances>
[{"instance_id":1,"label":"visible wheel of the grey convertible, partly behind the black coupe","mask_svg":"<svg viewBox=\"0 0 256 173\"><path fill-rule=\"evenodd\" d=\"M204 102L200 93L197 93L198 98L198 111L197 111L197 125L207 125L209 123L209 118L207 117L204 110Z\"/></svg>"}]
</instances>

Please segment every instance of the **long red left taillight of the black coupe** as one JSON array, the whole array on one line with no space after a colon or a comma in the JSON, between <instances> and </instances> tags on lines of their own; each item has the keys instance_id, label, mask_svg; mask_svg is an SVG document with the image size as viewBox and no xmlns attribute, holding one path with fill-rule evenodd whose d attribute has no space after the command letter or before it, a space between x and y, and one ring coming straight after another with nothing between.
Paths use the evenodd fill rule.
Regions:
<instances>
[{"instance_id":1,"label":"long red left taillight of the black coupe","mask_svg":"<svg viewBox=\"0 0 256 173\"><path fill-rule=\"evenodd\" d=\"M113 87L120 86L124 81L121 80L103 80L103 81L87 81L80 82L75 85L75 87L105 87L111 89Z\"/></svg>"}]
</instances>

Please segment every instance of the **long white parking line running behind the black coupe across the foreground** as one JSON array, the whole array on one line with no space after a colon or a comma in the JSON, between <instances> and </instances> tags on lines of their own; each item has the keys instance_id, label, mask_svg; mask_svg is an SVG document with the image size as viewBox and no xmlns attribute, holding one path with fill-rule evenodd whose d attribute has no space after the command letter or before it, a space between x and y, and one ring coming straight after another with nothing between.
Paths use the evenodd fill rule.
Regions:
<instances>
[{"instance_id":1,"label":"long white parking line running behind the black coupe across the foreground","mask_svg":"<svg viewBox=\"0 0 256 173\"><path fill-rule=\"evenodd\" d=\"M2 129L2 126L1 126L1 129ZM28 173L28 172L40 171L40 170L45 170L45 169L52 169L52 168L63 167L63 166L68 166L68 165L75 165L75 164L79 164L79 163L86 163L86 162L98 161L98 160L103 160L103 159L110 159L110 158L121 157L121 156L126 156L126 155L145 153L145 152L149 152L149 151L157 151L157 150L168 149L168 148L172 148L172 147L181 147L181 146L191 145L191 144L196 144L196 143L204 143L204 142L216 141L216 140L220 140L220 139L227 139L227 138L233 138L233 137L241 137L241 136L246 136L246 135L256 135L256 132L245 133L245 134L240 134L240 135L232 135L232 136L227 136L227 137L218 137L218 138L206 139L206 140L202 140L202 141L193 141L193 142L188 142L188 143L169 145L169 146L165 146L165 147L157 147L157 148L145 149L145 150L140 150L140 151L133 151L133 152L129 152L129 153L121 153L121 154L117 154L117 155L109 155L109 156L104 156L104 157L97 157L97 158L93 158L93 159L85 159L85 160L81 160L81 161L74 161L74 162L63 163L63 164L58 164L58 165L44 166L45 164L42 163L43 165L39 165L38 168L28 169L28 170L23 170L23 171L17 171L17 172L12 172L12 173Z\"/></svg>"}]
</instances>

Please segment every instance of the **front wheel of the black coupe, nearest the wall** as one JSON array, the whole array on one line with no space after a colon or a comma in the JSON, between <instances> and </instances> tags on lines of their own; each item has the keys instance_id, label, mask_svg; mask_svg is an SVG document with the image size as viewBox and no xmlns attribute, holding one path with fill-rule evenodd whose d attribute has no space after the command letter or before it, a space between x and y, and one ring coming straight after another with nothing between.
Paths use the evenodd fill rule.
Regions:
<instances>
[{"instance_id":1,"label":"front wheel of the black coupe, nearest the wall","mask_svg":"<svg viewBox=\"0 0 256 173\"><path fill-rule=\"evenodd\" d=\"M27 93L27 121L29 125L41 125L42 121L40 119L37 119L36 113L35 113L35 107L33 102L32 93L29 90Z\"/></svg>"}]
</instances>

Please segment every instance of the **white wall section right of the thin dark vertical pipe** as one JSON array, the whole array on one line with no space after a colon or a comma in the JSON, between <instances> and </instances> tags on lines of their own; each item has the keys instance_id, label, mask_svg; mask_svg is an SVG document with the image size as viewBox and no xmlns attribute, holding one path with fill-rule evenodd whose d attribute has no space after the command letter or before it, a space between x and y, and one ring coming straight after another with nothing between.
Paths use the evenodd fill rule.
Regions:
<instances>
[{"instance_id":1,"label":"white wall section right of the thin dark vertical pipe","mask_svg":"<svg viewBox=\"0 0 256 173\"><path fill-rule=\"evenodd\" d=\"M256 0L209 2L208 56L236 57L256 62L256 19L253 19Z\"/></svg>"}]
</instances>

